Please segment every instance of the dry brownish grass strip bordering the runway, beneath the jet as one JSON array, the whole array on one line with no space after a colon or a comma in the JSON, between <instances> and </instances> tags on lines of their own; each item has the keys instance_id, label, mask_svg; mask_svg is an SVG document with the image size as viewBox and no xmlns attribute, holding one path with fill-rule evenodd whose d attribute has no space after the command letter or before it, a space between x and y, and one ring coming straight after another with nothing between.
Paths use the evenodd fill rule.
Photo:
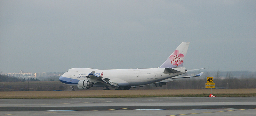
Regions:
<instances>
[{"instance_id":1,"label":"dry brownish grass strip bordering the runway, beneath the jet","mask_svg":"<svg viewBox=\"0 0 256 116\"><path fill-rule=\"evenodd\" d=\"M210 90L211 94L211 90ZM256 89L212 89L216 97L256 96ZM208 89L196 90L93 90L0 92L0 99L208 97Z\"/></svg>"}]
</instances>

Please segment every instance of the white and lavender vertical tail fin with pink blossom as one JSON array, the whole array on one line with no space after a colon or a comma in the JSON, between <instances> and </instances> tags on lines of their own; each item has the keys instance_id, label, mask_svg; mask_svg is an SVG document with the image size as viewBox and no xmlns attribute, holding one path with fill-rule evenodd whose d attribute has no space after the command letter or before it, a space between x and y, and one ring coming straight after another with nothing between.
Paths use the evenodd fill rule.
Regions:
<instances>
[{"instance_id":1,"label":"white and lavender vertical tail fin with pink blossom","mask_svg":"<svg viewBox=\"0 0 256 116\"><path fill-rule=\"evenodd\" d=\"M163 65L159 68L176 68L182 67L187 51L188 51L189 42L182 42L175 51L172 52L172 55L167 58Z\"/></svg>"}]
</instances>

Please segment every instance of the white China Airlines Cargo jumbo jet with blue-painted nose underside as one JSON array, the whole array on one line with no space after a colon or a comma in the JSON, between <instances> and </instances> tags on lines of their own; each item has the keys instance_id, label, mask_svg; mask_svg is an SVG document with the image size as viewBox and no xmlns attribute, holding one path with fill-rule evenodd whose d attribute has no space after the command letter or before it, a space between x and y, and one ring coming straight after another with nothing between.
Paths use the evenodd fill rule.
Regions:
<instances>
[{"instance_id":1,"label":"white China Airlines Cargo jumbo jet with blue-painted nose underside","mask_svg":"<svg viewBox=\"0 0 256 116\"><path fill-rule=\"evenodd\" d=\"M91 87L103 87L110 90L109 87L116 88L115 90L129 90L131 87L151 85L152 87L161 87L167 82L173 81L175 78L190 78L199 77L203 72L196 76L183 76L188 71L195 71L200 69L187 70L182 67L188 51L190 42L182 42L170 57L158 68L148 69L111 69L99 70L91 68L71 68L60 76L60 82L78 89L89 89ZM201 68L204 69L204 68Z\"/></svg>"}]
</instances>

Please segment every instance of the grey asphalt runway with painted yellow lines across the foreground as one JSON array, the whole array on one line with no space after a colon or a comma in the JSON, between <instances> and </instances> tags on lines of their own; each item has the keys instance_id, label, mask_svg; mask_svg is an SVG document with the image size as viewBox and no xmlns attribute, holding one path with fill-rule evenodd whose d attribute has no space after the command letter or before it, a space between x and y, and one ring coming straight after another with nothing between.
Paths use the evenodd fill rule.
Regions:
<instances>
[{"instance_id":1,"label":"grey asphalt runway with painted yellow lines across the foreground","mask_svg":"<svg viewBox=\"0 0 256 116\"><path fill-rule=\"evenodd\" d=\"M0 99L0 116L256 115L256 97Z\"/></svg>"}]
</instances>

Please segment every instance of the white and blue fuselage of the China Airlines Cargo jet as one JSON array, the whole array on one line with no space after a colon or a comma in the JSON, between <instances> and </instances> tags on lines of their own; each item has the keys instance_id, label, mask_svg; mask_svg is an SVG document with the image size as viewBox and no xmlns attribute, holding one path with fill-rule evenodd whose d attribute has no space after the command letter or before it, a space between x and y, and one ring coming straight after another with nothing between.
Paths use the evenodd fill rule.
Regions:
<instances>
[{"instance_id":1,"label":"white and blue fuselage of the China Airlines Cargo jet","mask_svg":"<svg viewBox=\"0 0 256 116\"><path fill-rule=\"evenodd\" d=\"M181 74L186 73L186 68L179 67L173 68L174 70L180 71L176 73L163 73L164 68L149 68L149 69L112 69L112 70L98 70L90 68L72 68L65 72L60 80L68 85L77 85L79 80L88 79L86 76L92 71L95 71L94 75L110 79L109 82L116 83L121 86L140 86L148 85L159 82L161 80L172 78ZM70 78L70 79L68 79ZM89 78L90 79L90 78ZM97 80L91 80L97 83ZM97 86L97 85L96 85Z\"/></svg>"}]
</instances>

